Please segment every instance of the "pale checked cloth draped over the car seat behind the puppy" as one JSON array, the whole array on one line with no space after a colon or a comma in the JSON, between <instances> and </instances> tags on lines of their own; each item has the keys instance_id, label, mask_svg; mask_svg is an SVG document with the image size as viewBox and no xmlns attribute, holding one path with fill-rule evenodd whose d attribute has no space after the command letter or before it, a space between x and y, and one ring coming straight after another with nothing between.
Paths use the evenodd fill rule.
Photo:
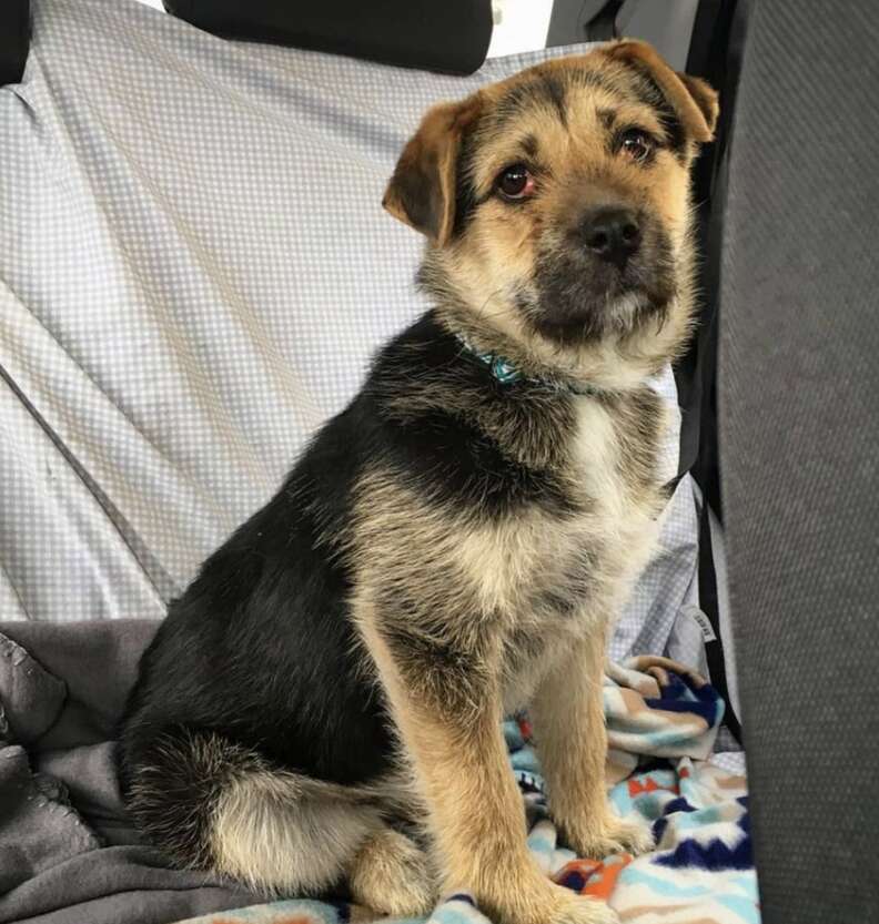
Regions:
<instances>
[{"instance_id":1,"label":"pale checked cloth draped over the car seat behind the puppy","mask_svg":"<svg viewBox=\"0 0 879 924\"><path fill-rule=\"evenodd\" d=\"M424 110L583 50L443 77L37 0L0 89L3 618L160 617L426 307L381 207ZM704 670L696 534L684 478L615 657Z\"/></svg>"}]
</instances>

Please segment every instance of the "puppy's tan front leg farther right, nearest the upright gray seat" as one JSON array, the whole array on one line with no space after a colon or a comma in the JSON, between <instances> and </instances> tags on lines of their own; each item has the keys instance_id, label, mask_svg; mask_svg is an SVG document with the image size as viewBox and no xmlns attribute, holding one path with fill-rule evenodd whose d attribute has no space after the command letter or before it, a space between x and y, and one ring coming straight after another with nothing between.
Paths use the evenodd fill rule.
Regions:
<instances>
[{"instance_id":1,"label":"puppy's tan front leg farther right, nearest the upright gray seat","mask_svg":"<svg viewBox=\"0 0 879 924\"><path fill-rule=\"evenodd\" d=\"M607 800L605 639L596 631L573 646L544 678L531 707L553 819L579 856L598 860L653 846L647 825L620 819Z\"/></svg>"}]
</instances>

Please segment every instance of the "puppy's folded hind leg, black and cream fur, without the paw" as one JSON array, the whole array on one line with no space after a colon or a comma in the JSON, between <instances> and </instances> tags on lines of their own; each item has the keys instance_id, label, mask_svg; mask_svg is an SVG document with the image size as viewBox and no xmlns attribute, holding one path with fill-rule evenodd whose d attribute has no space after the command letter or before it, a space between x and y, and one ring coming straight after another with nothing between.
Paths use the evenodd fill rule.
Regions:
<instances>
[{"instance_id":1,"label":"puppy's folded hind leg, black and cream fur, without the paw","mask_svg":"<svg viewBox=\"0 0 879 924\"><path fill-rule=\"evenodd\" d=\"M281 770L216 732L175 725L127 744L128 809L180 866L267 893L319 894L383 826L367 792Z\"/></svg>"}]
</instances>

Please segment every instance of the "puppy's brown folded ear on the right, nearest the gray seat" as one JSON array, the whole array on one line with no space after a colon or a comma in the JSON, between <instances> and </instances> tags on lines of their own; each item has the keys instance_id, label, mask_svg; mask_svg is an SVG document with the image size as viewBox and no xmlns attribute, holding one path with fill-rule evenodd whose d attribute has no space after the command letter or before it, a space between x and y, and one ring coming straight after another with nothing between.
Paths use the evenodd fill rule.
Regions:
<instances>
[{"instance_id":1,"label":"puppy's brown folded ear on the right, nearest the gray seat","mask_svg":"<svg viewBox=\"0 0 879 924\"><path fill-rule=\"evenodd\" d=\"M607 54L647 71L689 136L698 142L711 141L720 109L717 92L704 80L671 70L647 42L626 39L608 45Z\"/></svg>"}]
</instances>

